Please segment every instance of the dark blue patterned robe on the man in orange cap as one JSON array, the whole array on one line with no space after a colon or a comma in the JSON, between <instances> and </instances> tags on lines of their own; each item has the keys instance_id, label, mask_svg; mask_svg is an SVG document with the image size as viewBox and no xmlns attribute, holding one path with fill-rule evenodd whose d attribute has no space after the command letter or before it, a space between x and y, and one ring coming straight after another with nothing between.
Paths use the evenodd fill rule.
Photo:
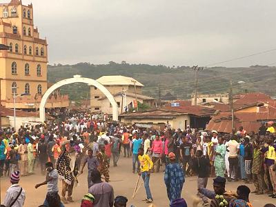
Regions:
<instances>
[{"instance_id":1,"label":"dark blue patterned robe on the man in orange cap","mask_svg":"<svg viewBox=\"0 0 276 207\"><path fill-rule=\"evenodd\" d=\"M184 173L179 164L168 164L164 176L167 186L167 195L170 201L181 198L181 191L184 184Z\"/></svg>"}]
</instances>

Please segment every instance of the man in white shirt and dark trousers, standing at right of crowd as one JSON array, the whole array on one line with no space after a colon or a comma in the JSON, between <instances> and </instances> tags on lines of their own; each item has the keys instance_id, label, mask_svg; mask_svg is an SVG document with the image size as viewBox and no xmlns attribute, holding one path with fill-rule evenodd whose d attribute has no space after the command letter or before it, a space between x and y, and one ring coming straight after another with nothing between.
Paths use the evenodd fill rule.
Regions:
<instances>
[{"instance_id":1,"label":"man in white shirt and dark trousers, standing at right of crowd","mask_svg":"<svg viewBox=\"0 0 276 207\"><path fill-rule=\"evenodd\" d=\"M234 170L234 172L235 172L234 178L235 178L235 181L237 181L237 172L238 172L237 166L239 165L239 159L238 159L237 155L239 155L239 143L235 139L236 139L236 137L233 136L231 138L231 140L225 144L225 146L229 150L229 157L228 157L229 175L232 175L232 172L235 169ZM230 177L228 177L228 181L231 181Z\"/></svg>"}]
</instances>

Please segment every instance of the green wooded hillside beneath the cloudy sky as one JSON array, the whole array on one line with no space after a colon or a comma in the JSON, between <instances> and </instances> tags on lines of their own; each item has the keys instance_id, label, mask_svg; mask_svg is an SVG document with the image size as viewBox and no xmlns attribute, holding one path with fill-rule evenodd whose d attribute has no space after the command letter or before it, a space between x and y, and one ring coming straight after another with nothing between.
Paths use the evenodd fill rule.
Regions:
<instances>
[{"instance_id":1,"label":"green wooded hillside beneath the cloudy sky","mask_svg":"<svg viewBox=\"0 0 276 207\"><path fill-rule=\"evenodd\" d=\"M276 96L276 68L268 66L250 66L249 68L214 67L199 71L199 93L228 92L229 79L233 79L233 91L265 92ZM163 97L167 92L178 99L188 99L194 91L195 72L188 66L166 67L146 64L110 63L93 65L77 63L75 65L48 66L48 80L55 83L61 79L79 74L83 77L97 79L103 75L124 75L133 77L145 85L144 94L155 98ZM89 98L89 88L84 84L72 84L61 88L62 93L71 99Z\"/></svg>"}]
</instances>

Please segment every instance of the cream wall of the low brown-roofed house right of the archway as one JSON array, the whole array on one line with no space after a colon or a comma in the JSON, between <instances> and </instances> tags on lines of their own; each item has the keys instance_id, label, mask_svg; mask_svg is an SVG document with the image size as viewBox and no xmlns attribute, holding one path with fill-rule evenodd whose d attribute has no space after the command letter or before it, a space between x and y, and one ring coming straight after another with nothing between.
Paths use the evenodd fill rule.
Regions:
<instances>
[{"instance_id":1,"label":"cream wall of the low brown-roofed house right of the archway","mask_svg":"<svg viewBox=\"0 0 276 207\"><path fill-rule=\"evenodd\" d=\"M179 115L175 119L128 119L128 117L121 117L121 122L126 124L135 124L135 123L153 123L153 124L166 124L167 121L170 123L172 128L180 128L181 130L185 129L185 121L187 125L190 125L189 115Z\"/></svg>"}]
</instances>

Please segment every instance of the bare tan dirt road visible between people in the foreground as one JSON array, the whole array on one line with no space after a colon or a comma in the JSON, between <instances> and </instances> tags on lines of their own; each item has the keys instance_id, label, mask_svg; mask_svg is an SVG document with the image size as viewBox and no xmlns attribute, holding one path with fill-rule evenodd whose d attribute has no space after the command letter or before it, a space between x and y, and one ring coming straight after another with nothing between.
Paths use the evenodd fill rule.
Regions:
<instances>
[{"instance_id":1,"label":"bare tan dirt road visible between people in the foreground","mask_svg":"<svg viewBox=\"0 0 276 207\"><path fill-rule=\"evenodd\" d=\"M135 207L148 206L142 199L146 197L144 186L141 186L135 199L131 199L133 190L135 188L135 182L137 181L137 175L132 174L132 159L120 158L118 167L110 167L110 179L111 180L122 180L112 181L110 184L115 190L115 196L124 195L129 198L128 206L130 204ZM161 169L163 170L163 169ZM79 177L79 186L74 188L73 199L75 203L67 204L68 207L80 206L81 198L88 192L87 187L87 168L83 175ZM35 189L34 185L44 181L45 177L37 173L28 177L21 177L20 184L26 190L26 204L27 207L37 207L43 204L46 196L46 186L41 186L39 189ZM213 181L209 179L208 188L213 189ZM235 190L237 186L241 185L242 182L231 182L226 184L226 190ZM10 186L9 179L7 177L1 178L1 199L5 196L6 189ZM250 189L253 191L253 184L248 184ZM167 207L168 197L166 194L166 186L164 184L164 173L152 173L150 177L150 190L152 191L152 197L155 200L157 207ZM61 182L59 182L59 191L61 192ZM197 177L186 178L184 189L182 190L182 197L186 199L188 206L192 205L193 197L197 193ZM267 203L276 203L276 199L271 199L266 195L250 195L250 201L255 207L262 207Z\"/></svg>"}]
</instances>

